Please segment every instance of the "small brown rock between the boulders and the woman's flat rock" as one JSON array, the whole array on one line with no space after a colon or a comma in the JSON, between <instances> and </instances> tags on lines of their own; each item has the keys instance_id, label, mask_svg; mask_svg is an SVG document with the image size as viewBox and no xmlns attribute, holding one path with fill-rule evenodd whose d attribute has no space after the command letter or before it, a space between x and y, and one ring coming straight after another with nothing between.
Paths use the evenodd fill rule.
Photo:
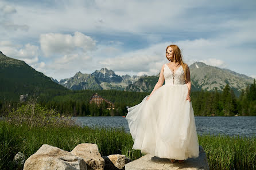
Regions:
<instances>
[{"instance_id":1,"label":"small brown rock between the boulders and the woman's flat rock","mask_svg":"<svg viewBox=\"0 0 256 170\"><path fill-rule=\"evenodd\" d=\"M105 160L104 170L123 169L125 167L125 164L130 162L130 159L126 158L125 155L119 155L119 154L103 156L103 159Z\"/></svg>"}]
</instances>

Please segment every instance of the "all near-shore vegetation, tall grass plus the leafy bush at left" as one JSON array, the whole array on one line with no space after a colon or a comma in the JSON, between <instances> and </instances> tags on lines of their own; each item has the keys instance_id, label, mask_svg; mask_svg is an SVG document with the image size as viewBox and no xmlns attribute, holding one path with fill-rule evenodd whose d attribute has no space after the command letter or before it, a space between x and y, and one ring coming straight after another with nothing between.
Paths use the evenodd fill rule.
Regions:
<instances>
[{"instance_id":1,"label":"all near-shore vegetation, tall grass plus the leafy bush at left","mask_svg":"<svg viewBox=\"0 0 256 170\"><path fill-rule=\"evenodd\" d=\"M26 105L0 120L0 169L21 169L13 158L22 152L26 159L42 144L72 151L80 143L94 143L102 156L122 154L136 160L143 154L132 149L133 139L125 128L80 126L70 116L61 116L38 105L32 98ZM210 169L256 169L256 136L199 135Z\"/></svg>"}]
</instances>

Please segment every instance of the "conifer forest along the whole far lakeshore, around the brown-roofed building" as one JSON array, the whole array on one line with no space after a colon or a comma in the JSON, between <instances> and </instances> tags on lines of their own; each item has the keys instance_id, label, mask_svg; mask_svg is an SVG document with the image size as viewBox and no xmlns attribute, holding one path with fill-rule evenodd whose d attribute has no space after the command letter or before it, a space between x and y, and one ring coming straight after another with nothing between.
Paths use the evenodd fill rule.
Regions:
<instances>
[{"instance_id":1,"label":"conifer forest along the whole far lakeshore, around the brown-roofed building","mask_svg":"<svg viewBox=\"0 0 256 170\"><path fill-rule=\"evenodd\" d=\"M98 93L115 104L108 110L106 102L98 107L89 103L92 94ZM41 93L37 102L46 108L55 109L61 114L72 116L126 116L127 106L139 104L150 92L125 92L120 90L65 90L58 93ZM256 116L256 85L243 89L236 97L227 84L222 92L191 92L191 101L195 116ZM10 109L25 104L18 101L0 101L1 115Z\"/></svg>"}]
</instances>

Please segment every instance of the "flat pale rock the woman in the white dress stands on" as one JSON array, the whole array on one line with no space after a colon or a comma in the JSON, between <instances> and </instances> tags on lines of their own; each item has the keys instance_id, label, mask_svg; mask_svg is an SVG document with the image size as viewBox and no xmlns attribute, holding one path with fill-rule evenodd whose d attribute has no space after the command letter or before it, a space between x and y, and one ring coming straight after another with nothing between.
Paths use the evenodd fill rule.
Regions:
<instances>
[{"instance_id":1,"label":"flat pale rock the woman in the white dress stands on","mask_svg":"<svg viewBox=\"0 0 256 170\"><path fill-rule=\"evenodd\" d=\"M137 160L131 161L125 165L126 170L138 170L138 169L161 169L161 170L172 170L172 169L186 169L186 170L196 170L205 169L209 170L209 165L207 161L206 154L203 147L199 146L199 157L196 159L189 158L184 161L184 163L170 163L168 159L159 158L152 155L144 155Z\"/></svg>"}]
</instances>

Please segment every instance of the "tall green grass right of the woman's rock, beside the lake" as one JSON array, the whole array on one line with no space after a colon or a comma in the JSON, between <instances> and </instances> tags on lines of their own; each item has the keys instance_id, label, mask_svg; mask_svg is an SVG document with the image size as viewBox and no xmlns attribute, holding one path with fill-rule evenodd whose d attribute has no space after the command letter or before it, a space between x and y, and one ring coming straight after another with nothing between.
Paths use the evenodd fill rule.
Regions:
<instances>
[{"instance_id":1,"label":"tall green grass right of the woman's rock, beside the lake","mask_svg":"<svg viewBox=\"0 0 256 170\"><path fill-rule=\"evenodd\" d=\"M256 137L199 135L210 169L256 169Z\"/></svg>"}]
</instances>

